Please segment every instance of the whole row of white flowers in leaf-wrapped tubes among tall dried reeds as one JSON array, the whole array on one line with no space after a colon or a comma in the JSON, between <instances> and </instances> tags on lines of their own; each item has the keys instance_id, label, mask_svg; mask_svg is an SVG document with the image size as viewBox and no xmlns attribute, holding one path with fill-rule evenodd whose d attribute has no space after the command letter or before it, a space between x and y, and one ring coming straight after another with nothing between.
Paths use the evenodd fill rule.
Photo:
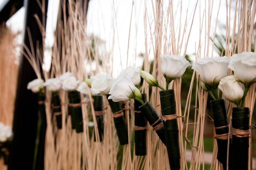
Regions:
<instances>
[{"instance_id":1,"label":"whole row of white flowers in leaf-wrapped tubes among tall dried reeds","mask_svg":"<svg viewBox=\"0 0 256 170\"><path fill-rule=\"evenodd\" d=\"M62 36L57 37L53 48L52 69L48 72L43 71L45 83L39 76L40 73L37 73L38 80L28 86L35 93L45 96L45 98L40 96L41 98L38 99L44 101L42 102L44 105L41 106L46 111L47 126L50 125L47 128L45 165L50 168L56 168L57 165L57 169L122 167L122 169L193 170L201 169L201 166L206 168L205 159L201 162L201 158L205 158L206 151L205 121L211 121L214 123L211 169L250 168L252 155L250 125L255 100L255 53L243 51L251 51L254 46L255 2L237 3L238 6L234 10L238 13L234 15L236 27L233 33L230 29L232 26L230 21L233 20L230 15L232 5L231 2L226 2L227 24L226 37L224 36L226 44L220 48L222 51L219 55L222 57L213 57L215 33L212 39L214 45L210 49L211 2L213 1L208 2L209 9L205 5L204 15L195 18L194 16L197 15L191 15L193 18L190 20L192 21L190 27L187 20L183 23L182 17L180 22L174 19L176 12L173 9L176 9L173 5L177 2L145 2L145 53L141 54L144 62L142 67L127 67L130 63L138 65L138 60L135 59L135 62L129 60L131 58L128 42L127 68L123 69L122 48L119 48L122 71L115 80L112 78L116 74L113 71L116 69L116 61L112 58L114 53L103 52L106 57L100 56L96 49L99 45L97 40L90 39L84 33L84 29L81 29L81 25L86 23L84 23L85 15L81 15L84 13L80 9L79 2L69 3L72 17L66 21L68 26L64 25L65 29L58 30L58 35ZM152 6L153 10L147 9L148 3L152 3L150 7ZM221 6L222 2L219 3ZM181 9L182 4L178 4ZM194 14L198 11L201 14L201 10L197 9L198 4L195 5ZM154 12L153 18L148 15L149 11ZM153 22L148 22L151 19ZM190 63L187 61L189 59L186 56L186 49L190 46L188 42L191 41L189 37L190 33L192 34L190 31L193 21L198 19L201 31L199 31L199 43L195 43L196 63L193 64L193 74L189 77L190 86L186 89L182 85L187 81L182 78L187 76L187 74L183 75L185 70L186 72L190 70L187 69ZM62 25L62 23L58 24ZM184 28L182 28L183 24ZM204 31L205 39L201 36ZM70 36L70 32L74 32L74 36ZM57 42L62 39L64 39L63 46L60 47ZM87 40L93 45L88 45ZM204 57L211 55L212 57ZM154 60L150 61L152 57ZM64 73L68 70L75 76L70 72ZM111 73L111 76L102 73ZM84 79L87 77L90 79ZM185 98L184 91L188 91L186 104L181 100L181 97ZM212 119L206 110L208 94L213 99L210 101ZM87 105L83 99L84 95L90 105ZM191 98L195 99L194 103L191 103ZM194 113L191 113L191 107L194 107ZM68 116L67 108L71 116ZM55 118L52 118L52 112ZM57 115L58 112L61 114ZM194 121L191 119L191 114L194 116ZM206 116L210 118L206 119ZM55 120L57 128L62 130L56 129ZM91 126L94 126L94 140L91 138L93 137L91 128L88 128ZM72 127L77 133L74 133ZM192 133L193 141L190 142L187 135L190 138ZM182 135L187 142L184 145ZM191 146L191 150L186 148L187 144ZM189 152L191 159L185 156Z\"/></svg>"}]
</instances>

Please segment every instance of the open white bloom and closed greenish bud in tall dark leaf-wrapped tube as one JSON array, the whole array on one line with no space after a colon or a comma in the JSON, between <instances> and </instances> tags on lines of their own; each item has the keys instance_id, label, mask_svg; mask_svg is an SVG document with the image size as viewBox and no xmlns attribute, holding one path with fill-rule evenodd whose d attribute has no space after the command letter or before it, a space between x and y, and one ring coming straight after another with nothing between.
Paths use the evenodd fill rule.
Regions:
<instances>
[{"instance_id":1,"label":"open white bloom and closed greenish bud in tall dark leaf-wrapped tube","mask_svg":"<svg viewBox=\"0 0 256 170\"><path fill-rule=\"evenodd\" d=\"M166 80L166 90L160 86L153 75L146 72L141 72L141 76L152 86L159 87L161 112L163 121L163 129L166 138L166 147L171 169L180 169L180 153L179 153L179 129L177 124L177 114L175 105L174 90L169 90L169 84L172 80L181 77L186 68L190 65L189 62L175 55L161 55L162 64L161 72Z\"/></svg>"}]
</instances>

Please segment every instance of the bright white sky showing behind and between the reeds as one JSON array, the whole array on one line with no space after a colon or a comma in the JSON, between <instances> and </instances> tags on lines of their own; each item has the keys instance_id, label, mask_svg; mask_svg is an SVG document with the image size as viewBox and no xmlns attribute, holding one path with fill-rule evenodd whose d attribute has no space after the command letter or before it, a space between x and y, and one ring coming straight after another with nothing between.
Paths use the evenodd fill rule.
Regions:
<instances>
[{"instance_id":1,"label":"bright white sky showing behind and between the reeds","mask_svg":"<svg viewBox=\"0 0 256 170\"><path fill-rule=\"evenodd\" d=\"M0 0L0 4L4 0ZM164 1L163 4L163 10L166 11L167 5ZM177 8L177 2L174 1L174 12ZM189 2L189 3L188 3ZM201 12L201 17L203 15L203 11L205 8L205 1L201 0L201 10L199 10L199 3L197 5L197 10L194 17L194 23L191 29L189 44L187 46L187 52L192 60L194 60L194 53L195 53L195 43L198 46L199 42L199 13ZM208 2L208 1L207 1ZM189 30L189 27L191 25L191 20L193 17L194 7L195 7L196 0L191 1L183 1L182 3L182 19L181 22L184 24L185 22L185 15L187 7L189 6L188 11L188 18L189 22L187 25L187 30ZM147 11L149 15L150 22L153 21L153 11L152 11L152 4L150 0L146 0L147 4ZM49 0L48 5L48 16L47 18L47 26L46 26L46 46L52 46L53 45L53 33L55 31L55 25L57 22L57 12L58 12L58 6L59 1L58 0ZM107 50L111 50L112 44L113 44L113 35L114 35L114 49L113 49L113 56L114 56L114 64L113 64L113 75L117 76L118 73L121 71L121 65L120 65L120 53L122 58L122 65L123 69L126 67L126 58L127 58L127 46L128 46L128 35L129 35L129 26L130 26L130 17L131 17L131 9L132 9L132 0L114 0L114 6L115 11L117 13L117 26L115 23L115 13L113 8L113 0L90 0L89 2L89 9L87 13L87 34L88 35L96 35L100 37L102 40L106 42L106 48ZM213 34L215 29L215 22L216 22L216 16L217 11L219 7L219 1L214 1L213 3L213 14L211 19L211 34ZM206 7L208 9L208 7ZM145 1L135 1L134 7L133 7L133 15L132 15L132 21L131 21L131 31L130 31L130 43L129 43L129 55L128 55L128 66L129 65L141 65L142 60L137 60L135 64L135 56L138 56L139 53L145 53L145 34L144 34L144 12L145 12ZM206 11L208 12L208 11ZM175 24L179 23L179 11L176 14L175 17ZM25 15L25 9L24 7L21 8L14 16L11 17L11 19L8 20L6 23L8 27L10 27L13 32L23 30L23 24L24 24L24 15ZM231 12L232 16L232 12ZM206 15L207 17L207 15ZM231 17L231 23L233 23L233 18ZM221 1L220 11L219 11L219 17L218 17L218 26L225 25L226 23L226 2ZM138 26L137 30L137 39L136 39L136 25ZM113 34L113 28L115 34ZM149 26L147 27L149 29ZM177 28L175 28L177 31ZM117 38L117 31L119 36L119 43ZM148 31L148 30L147 30ZM204 26L201 36L202 41L204 40ZM217 33L219 33L220 30L217 29ZM222 31L223 34L225 32ZM188 32L186 32L185 39L187 39ZM21 36L22 37L22 36ZM22 38L19 38L19 42L22 42ZM120 52L119 52L119 46L120 46ZM136 54L135 54L135 47L136 47ZM152 48L152 46L150 46ZM211 45L210 45L210 53L209 56L211 56ZM50 52L45 53L46 56L48 56L48 62L49 57L51 55ZM181 52L183 54L183 50ZM150 58L153 58L153 49L150 52ZM217 56L218 54L214 52L213 56ZM45 67L47 69L47 66ZM99 73L101 74L101 73Z\"/></svg>"}]
</instances>

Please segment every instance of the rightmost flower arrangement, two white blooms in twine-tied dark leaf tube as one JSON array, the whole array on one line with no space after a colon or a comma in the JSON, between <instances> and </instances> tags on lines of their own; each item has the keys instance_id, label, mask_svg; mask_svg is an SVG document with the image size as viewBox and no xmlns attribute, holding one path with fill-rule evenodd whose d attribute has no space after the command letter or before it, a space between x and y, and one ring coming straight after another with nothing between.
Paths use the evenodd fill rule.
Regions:
<instances>
[{"instance_id":1,"label":"rightmost flower arrangement, two white blooms in twine-tied dark leaf tube","mask_svg":"<svg viewBox=\"0 0 256 170\"><path fill-rule=\"evenodd\" d=\"M256 82L256 53L234 54L228 65L234 71L221 79L219 89L225 99L237 105L232 108L232 164L234 169L248 168L248 143L250 138L249 112L244 107L245 98L251 84ZM241 86L241 84L243 86Z\"/></svg>"}]
</instances>

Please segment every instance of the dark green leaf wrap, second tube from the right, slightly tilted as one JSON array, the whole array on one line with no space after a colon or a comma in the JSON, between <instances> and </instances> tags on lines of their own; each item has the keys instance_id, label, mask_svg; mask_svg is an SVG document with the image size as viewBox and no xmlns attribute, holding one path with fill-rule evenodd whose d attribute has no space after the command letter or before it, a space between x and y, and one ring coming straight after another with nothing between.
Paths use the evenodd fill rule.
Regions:
<instances>
[{"instance_id":1,"label":"dark green leaf wrap, second tube from the right, slightly tilted","mask_svg":"<svg viewBox=\"0 0 256 170\"><path fill-rule=\"evenodd\" d=\"M212 100L211 101L211 110L213 111L213 120L214 127L227 126L229 124L227 119L227 109L226 109L226 100ZM215 129L217 135L229 133L229 127L224 127L221 129ZM218 145L218 154L217 159L223 165L223 169L227 169L227 143L228 139L216 139ZM229 148L229 155L231 155L231 142ZM231 165L232 157L229 156L229 164Z\"/></svg>"}]
</instances>

